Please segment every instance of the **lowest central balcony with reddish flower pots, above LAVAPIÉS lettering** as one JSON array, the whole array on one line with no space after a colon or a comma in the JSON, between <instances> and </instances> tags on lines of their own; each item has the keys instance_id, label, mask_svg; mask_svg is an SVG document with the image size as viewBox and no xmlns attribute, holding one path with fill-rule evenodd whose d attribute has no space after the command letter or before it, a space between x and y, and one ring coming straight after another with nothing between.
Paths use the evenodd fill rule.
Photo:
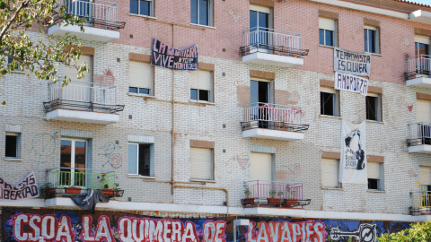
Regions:
<instances>
[{"instance_id":1,"label":"lowest central balcony with reddish flower pots, above LAVAPI\u00c9S lettering","mask_svg":"<svg viewBox=\"0 0 431 242\"><path fill-rule=\"evenodd\" d=\"M303 184L286 181L246 181L244 206L268 206L291 208L305 206L311 199L303 200Z\"/></svg>"}]
</instances>

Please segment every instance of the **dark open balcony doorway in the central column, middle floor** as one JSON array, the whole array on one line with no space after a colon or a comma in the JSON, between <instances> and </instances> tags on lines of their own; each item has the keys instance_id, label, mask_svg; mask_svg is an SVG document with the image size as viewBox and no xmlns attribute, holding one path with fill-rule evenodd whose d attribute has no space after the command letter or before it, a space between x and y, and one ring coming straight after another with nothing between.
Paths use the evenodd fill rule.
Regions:
<instances>
[{"instance_id":1,"label":"dark open balcony doorway in the central column, middle floor","mask_svg":"<svg viewBox=\"0 0 431 242\"><path fill-rule=\"evenodd\" d=\"M268 128L269 108L272 107L272 82L266 80L251 80L250 83L251 117L249 120L258 121L261 128Z\"/></svg>"}]
</instances>

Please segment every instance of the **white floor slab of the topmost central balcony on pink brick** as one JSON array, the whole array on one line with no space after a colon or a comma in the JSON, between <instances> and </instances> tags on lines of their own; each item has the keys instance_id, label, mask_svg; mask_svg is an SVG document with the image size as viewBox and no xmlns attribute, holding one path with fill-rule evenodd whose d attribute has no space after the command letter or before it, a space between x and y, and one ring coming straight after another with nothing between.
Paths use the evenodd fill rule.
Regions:
<instances>
[{"instance_id":1,"label":"white floor slab of the topmost central balcony on pink brick","mask_svg":"<svg viewBox=\"0 0 431 242\"><path fill-rule=\"evenodd\" d=\"M303 65L303 58L256 52L247 56L242 56L242 62L292 68Z\"/></svg>"}]
</instances>

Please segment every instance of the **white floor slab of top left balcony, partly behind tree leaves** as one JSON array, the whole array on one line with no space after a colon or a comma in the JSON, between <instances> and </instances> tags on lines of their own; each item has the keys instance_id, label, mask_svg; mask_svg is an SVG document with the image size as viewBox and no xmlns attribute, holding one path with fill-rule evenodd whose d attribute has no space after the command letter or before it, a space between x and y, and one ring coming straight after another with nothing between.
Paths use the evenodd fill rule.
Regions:
<instances>
[{"instance_id":1,"label":"white floor slab of top left balcony, partly behind tree leaves","mask_svg":"<svg viewBox=\"0 0 431 242\"><path fill-rule=\"evenodd\" d=\"M75 35L78 39L87 39L93 41L100 41L108 43L115 39L119 39L119 31L116 30L103 30L90 26L84 26L84 32L81 31L79 26L76 25L53 25L48 29L48 35L60 35L63 36L69 32L71 35Z\"/></svg>"}]
</instances>

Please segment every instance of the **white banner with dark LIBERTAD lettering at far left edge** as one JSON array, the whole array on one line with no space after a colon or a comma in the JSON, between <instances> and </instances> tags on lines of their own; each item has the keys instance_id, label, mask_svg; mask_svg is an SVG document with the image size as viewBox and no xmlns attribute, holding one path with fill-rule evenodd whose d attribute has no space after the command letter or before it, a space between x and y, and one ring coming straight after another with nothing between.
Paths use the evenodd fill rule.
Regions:
<instances>
[{"instance_id":1,"label":"white banner with dark LIBERTAD lettering at far left edge","mask_svg":"<svg viewBox=\"0 0 431 242\"><path fill-rule=\"evenodd\" d=\"M15 186L0 178L0 200L15 201L35 197L39 197L39 188L33 171Z\"/></svg>"}]
</instances>

